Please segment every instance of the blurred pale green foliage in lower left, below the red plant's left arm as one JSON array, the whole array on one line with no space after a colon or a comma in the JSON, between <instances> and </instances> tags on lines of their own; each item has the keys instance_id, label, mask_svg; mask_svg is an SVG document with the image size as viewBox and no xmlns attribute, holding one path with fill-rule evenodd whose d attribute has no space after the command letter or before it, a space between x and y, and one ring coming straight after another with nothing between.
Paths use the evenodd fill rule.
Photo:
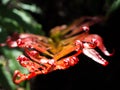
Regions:
<instances>
[{"instance_id":1,"label":"blurred pale green foliage in lower left, below the red plant's left arm","mask_svg":"<svg viewBox=\"0 0 120 90\"><path fill-rule=\"evenodd\" d=\"M16 90L16 88L27 88L29 82L25 82L19 86L15 85L12 81L13 73L15 70L20 70L23 73L27 73L27 69L21 67L17 62L16 58L22 54L20 50L10 49L10 48L1 48L1 51L4 53L4 56L0 58L0 84L4 86L7 90ZM29 89L28 89L29 90Z\"/></svg>"}]
</instances>

